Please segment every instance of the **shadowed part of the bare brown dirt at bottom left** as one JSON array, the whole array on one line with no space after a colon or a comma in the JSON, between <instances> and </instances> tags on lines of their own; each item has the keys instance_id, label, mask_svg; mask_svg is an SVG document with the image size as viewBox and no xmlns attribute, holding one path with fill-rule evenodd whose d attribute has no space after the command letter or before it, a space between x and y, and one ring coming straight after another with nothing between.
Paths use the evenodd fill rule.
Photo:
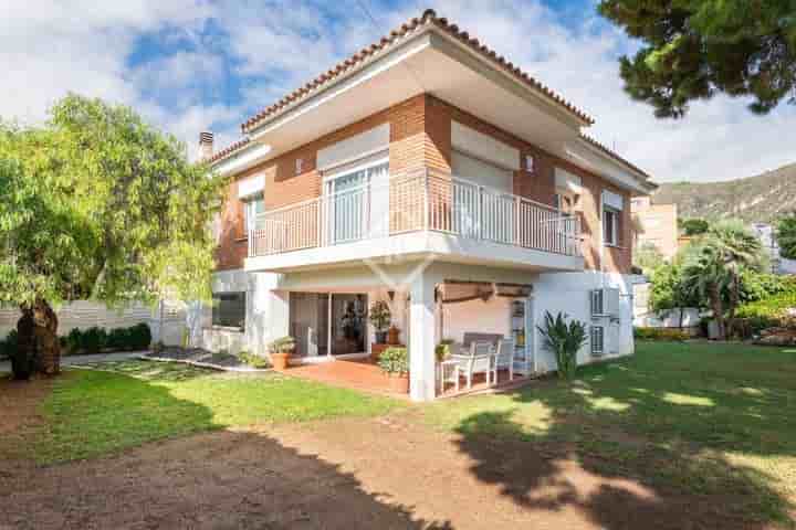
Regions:
<instances>
[{"instance_id":1,"label":"shadowed part of the bare brown dirt at bottom left","mask_svg":"<svg viewBox=\"0 0 796 530\"><path fill-rule=\"evenodd\" d=\"M192 403L171 407L212 417ZM253 432L206 433L2 478L3 528L452 528L368 491L338 465Z\"/></svg>"}]
</instances>

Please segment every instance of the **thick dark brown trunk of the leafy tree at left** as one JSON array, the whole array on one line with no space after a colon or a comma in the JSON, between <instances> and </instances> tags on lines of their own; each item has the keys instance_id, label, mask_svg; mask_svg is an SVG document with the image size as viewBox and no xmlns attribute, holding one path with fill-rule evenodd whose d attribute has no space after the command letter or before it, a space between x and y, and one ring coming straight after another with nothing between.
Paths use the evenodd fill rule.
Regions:
<instances>
[{"instance_id":1,"label":"thick dark brown trunk of the leafy tree at left","mask_svg":"<svg viewBox=\"0 0 796 530\"><path fill-rule=\"evenodd\" d=\"M17 322L19 343L12 359L14 379L30 379L40 372L55 375L61 372L61 343L57 338L57 316L45 300L22 307Z\"/></svg>"}]
</instances>

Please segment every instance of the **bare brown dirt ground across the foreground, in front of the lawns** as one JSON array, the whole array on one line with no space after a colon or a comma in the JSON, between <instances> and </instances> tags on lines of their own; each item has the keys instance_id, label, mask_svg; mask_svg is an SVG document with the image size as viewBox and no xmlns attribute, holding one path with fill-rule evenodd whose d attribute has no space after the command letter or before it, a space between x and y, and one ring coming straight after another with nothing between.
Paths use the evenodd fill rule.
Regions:
<instances>
[{"instance_id":1,"label":"bare brown dirt ground across the foreground, in front of the lawns","mask_svg":"<svg viewBox=\"0 0 796 530\"><path fill-rule=\"evenodd\" d=\"M720 499L661 498L527 444L434 432L411 414L12 467L0 475L0 528L764 528L727 520Z\"/></svg>"}]
</instances>

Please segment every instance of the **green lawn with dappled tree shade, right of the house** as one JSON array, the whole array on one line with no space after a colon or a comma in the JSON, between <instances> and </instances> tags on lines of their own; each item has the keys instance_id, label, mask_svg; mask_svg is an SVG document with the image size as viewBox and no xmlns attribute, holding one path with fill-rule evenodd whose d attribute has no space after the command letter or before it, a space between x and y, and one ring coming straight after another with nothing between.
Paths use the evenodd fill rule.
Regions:
<instances>
[{"instance_id":1,"label":"green lawn with dappled tree shade, right of the house","mask_svg":"<svg viewBox=\"0 0 796 530\"><path fill-rule=\"evenodd\" d=\"M793 524L796 349L640 342L572 385L438 402L427 417L461 433L474 458L479 439L520 439L604 476L721 496L734 516Z\"/></svg>"}]
</instances>

